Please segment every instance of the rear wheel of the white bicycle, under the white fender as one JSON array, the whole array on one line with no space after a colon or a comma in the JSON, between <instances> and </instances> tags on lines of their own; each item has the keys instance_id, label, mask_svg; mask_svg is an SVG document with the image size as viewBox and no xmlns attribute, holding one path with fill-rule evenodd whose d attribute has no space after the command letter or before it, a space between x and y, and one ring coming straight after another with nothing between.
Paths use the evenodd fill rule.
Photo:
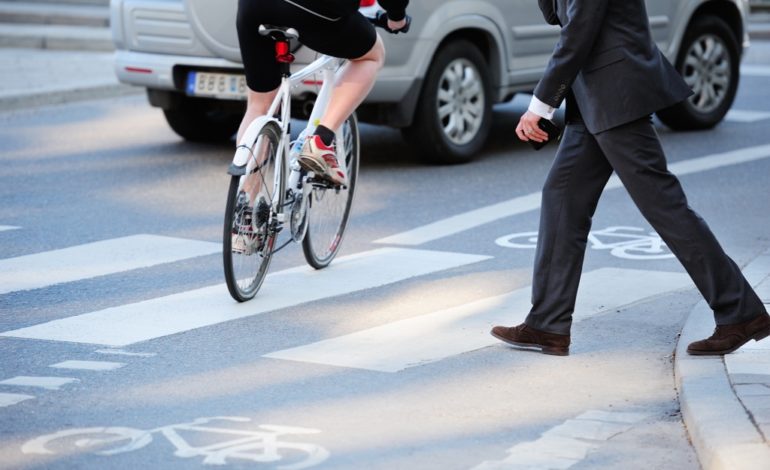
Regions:
<instances>
[{"instance_id":1,"label":"rear wheel of the white bicycle, under the white fender","mask_svg":"<svg viewBox=\"0 0 770 470\"><path fill-rule=\"evenodd\" d=\"M263 127L250 149L246 174L230 180L222 254L227 289L238 302L257 294L273 256L279 230L276 211L284 193L280 135L273 124Z\"/></svg>"}]
</instances>

